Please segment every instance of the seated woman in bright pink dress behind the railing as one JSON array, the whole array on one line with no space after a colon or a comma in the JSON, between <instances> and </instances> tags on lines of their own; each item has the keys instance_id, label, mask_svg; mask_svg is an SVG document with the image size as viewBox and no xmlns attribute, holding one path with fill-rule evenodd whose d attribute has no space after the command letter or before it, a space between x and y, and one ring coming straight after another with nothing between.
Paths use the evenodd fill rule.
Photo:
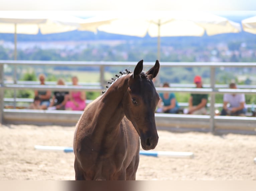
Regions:
<instances>
[{"instance_id":1,"label":"seated woman in bright pink dress behind the railing","mask_svg":"<svg viewBox=\"0 0 256 191\"><path fill-rule=\"evenodd\" d=\"M73 86L78 86L78 78L72 77ZM84 110L86 107L86 95L84 91L71 91L69 93L69 101L67 101L65 109L67 110Z\"/></svg>"}]
</instances>

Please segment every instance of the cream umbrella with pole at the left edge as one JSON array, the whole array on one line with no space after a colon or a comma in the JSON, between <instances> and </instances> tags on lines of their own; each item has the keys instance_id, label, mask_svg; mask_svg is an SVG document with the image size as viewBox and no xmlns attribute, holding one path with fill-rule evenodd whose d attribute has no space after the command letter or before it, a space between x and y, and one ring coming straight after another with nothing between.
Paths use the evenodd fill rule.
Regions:
<instances>
[{"instance_id":1,"label":"cream umbrella with pole at the left edge","mask_svg":"<svg viewBox=\"0 0 256 191\"><path fill-rule=\"evenodd\" d=\"M84 19L58 11L0 11L0 33L13 33L14 59L17 34L61 33L76 30Z\"/></svg>"}]
</instances>

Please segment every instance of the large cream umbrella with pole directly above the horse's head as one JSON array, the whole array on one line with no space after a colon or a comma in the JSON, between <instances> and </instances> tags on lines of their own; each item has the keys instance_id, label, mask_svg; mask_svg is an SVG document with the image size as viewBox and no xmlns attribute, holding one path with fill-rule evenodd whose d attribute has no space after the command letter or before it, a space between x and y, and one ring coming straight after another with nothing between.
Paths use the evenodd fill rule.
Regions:
<instances>
[{"instance_id":1,"label":"large cream umbrella with pole directly above the horse's head","mask_svg":"<svg viewBox=\"0 0 256 191\"><path fill-rule=\"evenodd\" d=\"M143 15L112 14L85 20L78 30L104 31L113 34L158 37L157 57L160 59L160 37L203 36L238 33L239 23L202 12L147 12Z\"/></svg>"}]
</instances>

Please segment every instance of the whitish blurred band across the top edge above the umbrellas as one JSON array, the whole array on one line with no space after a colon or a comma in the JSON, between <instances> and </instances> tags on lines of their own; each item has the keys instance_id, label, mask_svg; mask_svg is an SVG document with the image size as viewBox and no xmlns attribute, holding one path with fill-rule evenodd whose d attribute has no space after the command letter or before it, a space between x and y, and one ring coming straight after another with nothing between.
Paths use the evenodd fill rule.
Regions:
<instances>
[{"instance_id":1,"label":"whitish blurred band across the top edge above the umbrellas","mask_svg":"<svg viewBox=\"0 0 256 191\"><path fill-rule=\"evenodd\" d=\"M0 10L256 11L256 0L0 0Z\"/></svg>"}]
</instances>

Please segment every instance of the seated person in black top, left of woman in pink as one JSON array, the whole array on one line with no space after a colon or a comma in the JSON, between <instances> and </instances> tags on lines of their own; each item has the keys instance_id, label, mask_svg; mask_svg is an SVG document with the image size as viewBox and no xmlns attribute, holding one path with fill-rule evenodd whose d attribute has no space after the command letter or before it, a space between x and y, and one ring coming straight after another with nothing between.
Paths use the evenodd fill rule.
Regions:
<instances>
[{"instance_id":1,"label":"seated person in black top, left of woman in pink","mask_svg":"<svg viewBox=\"0 0 256 191\"><path fill-rule=\"evenodd\" d=\"M57 85L65 85L62 79L59 79ZM48 109L64 110L65 105L69 99L68 91L55 91Z\"/></svg>"}]
</instances>

